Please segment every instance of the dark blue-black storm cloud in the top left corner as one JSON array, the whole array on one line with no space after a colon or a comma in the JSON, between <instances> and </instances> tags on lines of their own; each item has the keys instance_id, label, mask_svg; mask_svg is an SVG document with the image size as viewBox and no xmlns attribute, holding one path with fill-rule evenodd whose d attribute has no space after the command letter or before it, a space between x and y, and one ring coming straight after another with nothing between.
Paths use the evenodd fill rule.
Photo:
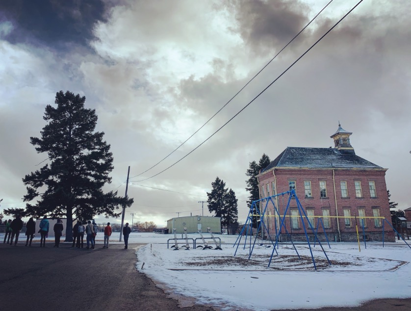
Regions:
<instances>
[{"instance_id":1,"label":"dark blue-black storm cloud in the top left corner","mask_svg":"<svg viewBox=\"0 0 411 311\"><path fill-rule=\"evenodd\" d=\"M2 0L0 22L13 30L4 38L10 43L31 43L62 49L87 46L93 27L105 21L110 4L102 0Z\"/></svg>"}]
</instances>

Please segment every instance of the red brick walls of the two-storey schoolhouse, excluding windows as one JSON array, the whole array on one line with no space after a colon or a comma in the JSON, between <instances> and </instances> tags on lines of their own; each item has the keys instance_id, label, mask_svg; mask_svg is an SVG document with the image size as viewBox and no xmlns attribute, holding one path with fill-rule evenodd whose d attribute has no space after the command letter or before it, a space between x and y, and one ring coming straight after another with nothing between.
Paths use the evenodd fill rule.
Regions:
<instances>
[{"instance_id":1,"label":"red brick walls of the two-storey schoolhouse, excluding windows","mask_svg":"<svg viewBox=\"0 0 411 311\"><path fill-rule=\"evenodd\" d=\"M349 208L351 210L351 216L358 216L358 208L362 207L365 209L365 216L373 216L373 208L378 208L380 210L380 216L385 217L385 219L391 223L391 217L388 205L388 196L385 184L385 170L358 170L358 169L335 169L334 170L334 180L335 180L335 196L334 196L334 182L333 182L333 170L332 169L276 169L275 177L277 183L277 193L286 192L289 190L288 181L296 181L296 194L302 205L306 210L307 207L314 209L315 216L322 215L322 207L330 209L330 216L336 216L335 209L335 197L337 203L338 216L344 216L343 208ZM270 195L272 195L271 184L275 181L273 171L269 171L264 175L258 177L258 181L261 185L264 185L266 189L266 184L270 184ZM305 198L305 188L304 181L311 181L311 192L312 198ZM326 181L327 183L327 198L320 198L320 186L319 181ZM341 198L341 188L340 181L347 182L348 188L348 198ZM354 181L361 182L362 188L362 198L356 198L356 191ZM376 186L377 197L370 197L370 190L368 181L374 181ZM266 190L265 190L266 191ZM265 192L266 194L266 192ZM288 201L288 195L284 195L284 207L283 198L279 197L278 207L280 213L283 215L284 208L286 207ZM265 207L265 203L262 204ZM295 199L291 199L290 208L297 207L297 202ZM267 210L271 210L273 214L272 204L267 206ZM287 212L289 214L289 212ZM271 228L274 228L274 217L271 217ZM315 218L317 223L318 218ZM360 219L357 219L359 225L359 231L362 232L360 227ZM383 220L381 220L383 222ZM305 221L306 226L308 226L307 221ZM331 218L332 228L326 229L326 232L337 232L337 218ZM289 218L285 218L285 224L288 231L291 231ZM355 233L355 219L352 219L351 228L345 227L344 218L338 218L339 230L341 235L343 233ZM303 226L300 219L300 230L293 230L293 233L304 233ZM319 232L322 228L318 229ZM378 233L382 232L382 228L376 228L374 224L374 219L366 219L366 233ZM385 232L392 232L391 227L385 223ZM361 233L360 233L361 234Z\"/></svg>"}]
</instances>

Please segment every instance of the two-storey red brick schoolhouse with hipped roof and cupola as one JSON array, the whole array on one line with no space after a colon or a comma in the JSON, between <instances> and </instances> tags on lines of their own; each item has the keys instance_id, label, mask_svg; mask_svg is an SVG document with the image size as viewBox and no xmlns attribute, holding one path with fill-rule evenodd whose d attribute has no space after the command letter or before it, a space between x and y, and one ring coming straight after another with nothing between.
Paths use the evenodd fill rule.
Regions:
<instances>
[{"instance_id":1,"label":"two-storey red brick schoolhouse with hipped roof and cupola","mask_svg":"<svg viewBox=\"0 0 411 311\"><path fill-rule=\"evenodd\" d=\"M387 169L357 156L350 143L351 134L338 125L338 130L331 136L334 148L287 147L257 176L260 198L294 189L311 224L317 227L318 216L321 216L325 232L333 241L357 240L355 218L350 218L352 216L385 217L391 223L385 184ZM282 215L288 196L276 198L276 206ZM265 207L265 203L262 206ZM279 218L270 217L275 215L271 203L266 214L269 234L275 236ZM288 215L298 215L295 198L291 198ZM308 228L307 220L304 222ZM362 220L357 218L357 223L362 240ZM365 218L363 225L366 240L382 240L383 219ZM286 217L285 226L293 239L305 239L300 218ZM285 231L281 233L285 239ZM324 238L321 223L318 233ZM395 241L392 228L387 223L385 240Z\"/></svg>"}]
</instances>

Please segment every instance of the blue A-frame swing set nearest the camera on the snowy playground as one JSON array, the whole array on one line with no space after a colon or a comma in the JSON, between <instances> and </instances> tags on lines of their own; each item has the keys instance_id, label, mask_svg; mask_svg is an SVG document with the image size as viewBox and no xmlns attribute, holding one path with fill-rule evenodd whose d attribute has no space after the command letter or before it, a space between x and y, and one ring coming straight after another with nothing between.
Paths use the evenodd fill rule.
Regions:
<instances>
[{"instance_id":1,"label":"blue A-frame swing set nearest the camera on the snowy playground","mask_svg":"<svg viewBox=\"0 0 411 311\"><path fill-rule=\"evenodd\" d=\"M280 228L279 228L278 230L277 230L277 228L276 228L276 239L275 239L275 243L273 243L273 241L272 241L272 239L271 239L271 236L270 236L270 240L271 240L271 242L273 243L274 249L273 249L273 252L271 253L271 257L270 257L270 260L269 260L269 262L268 262L268 267L269 267L270 264L271 264L271 260L272 260L272 258L273 258L273 256L274 256L274 252L276 252L276 254L278 255L278 252L277 252L277 250L276 250L276 247L278 246L278 243L279 243L279 241L280 241L281 229L284 228L285 233L287 234L287 236L289 236L288 230L287 230L287 228L285 227L284 220L285 220L285 216L286 216L286 214L287 214L287 210L288 210L288 208L289 208L289 206L290 206L291 198L294 198L294 199L295 199L295 202L297 203L298 217L301 218L301 222L302 222L303 229L304 229L304 233L305 233L306 240L307 240L307 243L308 243L308 248L309 248L309 251L310 251L310 254L311 254L311 259L312 259L312 263L313 263L314 269L317 270L317 267L316 267L316 265L315 265L315 259L314 259L314 256L313 256L313 254L312 254L311 244L310 244L310 242L309 242L308 233L307 233L307 229L306 229L306 225L305 225L304 219L307 220L308 226L309 226L309 228L311 229L311 232L312 232L312 233L314 234L314 236L315 236L315 240L316 240L316 241L318 242L318 244L320 245L320 247L321 247L321 249L322 249L325 257L326 257L327 260L328 260L328 263L331 265L331 261L330 261L330 259L328 258L327 254L326 254L326 252L325 252L325 250L324 250L324 248L323 248L323 246L322 246L322 244L321 244L321 242L320 242L320 240L319 240L319 238L318 238L318 236L317 236L317 233L314 231L314 228L312 227L312 225L311 225L311 223L310 223L310 221L309 221L309 218L308 218L308 216L307 216L304 208L301 206L300 200L298 200L298 197L297 197L297 195L296 195L296 193L295 193L295 190L290 190L290 191L283 192L283 193L280 193L280 194L276 194L276 195L273 195L273 196L270 196L270 197L267 197L267 198L263 198L263 199L260 199L260 200L253 201L253 203L252 203L252 205L251 205L251 207L250 207L250 211L249 211L248 216L247 216L246 224L244 225L243 229L241 230L240 234L239 234L238 237L237 237L237 240L236 240L235 243L234 243L234 245L237 244L237 248L236 248L236 250L235 250L234 256L235 256L235 254L237 253L238 246L239 246L239 244L240 244L241 237L242 237L242 235L243 235L243 231L244 231L244 229L246 228L246 226L247 226L247 232L248 232L248 228L250 227L250 221L252 222L252 216L259 216L259 218L260 218L260 221L259 221L259 224L258 224L258 228L257 228L257 232L259 232L259 231L261 230L261 228L265 228L265 230L268 231L268 230L267 230L267 227L266 227L266 225L265 225L265 223L264 223L264 216L265 216L265 212L266 212L266 210L267 210L268 203L271 202L271 203L273 204L273 207L274 207L275 212L276 212L278 215L280 215L280 212L279 212L278 208L276 207L276 204L274 203L273 198L278 197L278 196L280 196L280 195L284 196L285 194L288 194L288 196L289 196L289 197L288 197L288 202L287 202L287 206L286 206L285 209L284 209L283 217L281 218ZM261 202L261 203L266 202L265 207L264 207L262 213L260 213L260 210L257 208L257 205L256 205L256 204L257 204L258 202ZM257 211L257 214L256 214L256 215L254 215L254 213L253 213L254 208L255 208L256 211ZM304 217L304 218L303 218L303 217ZM290 215L290 218L291 218L291 215ZM246 245L246 242L247 242L247 236L246 236L246 239L245 239L245 240L246 240L246 241L245 241L245 243L244 243L244 249L245 249L245 245ZM248 259L251 258L251 255L252 255L253 250L254 250L254 246L255 246L255 244L256 244L256 240L257 240L257 234L256 234L256 236L255 236L255 238L254 238L253 246L251 246L251 237L250 237L250 253L249 253ZM290 240L291 240L291 243L292 243L292 245L293 245L293 248L294 248L294 250L295 250L298 258L301 259L300 255L298 254L297 248L295 247L295 244L294 244L293 240L292 240L291 238L290 238ZM238 241L238 243L237 243L237 241ZM233 246L234 246L234 245L233 245Z\"/></svg>"}]
</instances>

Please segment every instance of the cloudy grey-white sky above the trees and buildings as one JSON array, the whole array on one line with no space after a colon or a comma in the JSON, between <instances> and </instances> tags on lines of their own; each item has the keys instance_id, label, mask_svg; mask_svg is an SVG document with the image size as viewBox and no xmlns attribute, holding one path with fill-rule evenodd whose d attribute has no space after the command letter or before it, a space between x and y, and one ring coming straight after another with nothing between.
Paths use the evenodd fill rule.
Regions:
<instances>
[{"instance_id":1,"label":"cloudy grey-white sky above the trees and buildings","mask_svg":"<svg viewBox=\"0 0 411 311\"><path fill-rule=\"evenodd\" d=\"M358 156L388 169L391 200L411 207L408 0L364 0L186 156L358 2L334 0L204 128L145 172L203 126L328 2L1 1L0 209L25 207L22 178L47 158L29 137L40 137L45 106L59 90L84 95L86 107L96 109L114 156L107 191L125 194L130 166L129 222L131 212L134 221L159 226L177 212L201 215L198 202L206 201L217 176L236 193L244 222L249 163L263 153L274 159L288 146L334 146L338 121L353 132Z\"/></svg>"}]
</instances>

